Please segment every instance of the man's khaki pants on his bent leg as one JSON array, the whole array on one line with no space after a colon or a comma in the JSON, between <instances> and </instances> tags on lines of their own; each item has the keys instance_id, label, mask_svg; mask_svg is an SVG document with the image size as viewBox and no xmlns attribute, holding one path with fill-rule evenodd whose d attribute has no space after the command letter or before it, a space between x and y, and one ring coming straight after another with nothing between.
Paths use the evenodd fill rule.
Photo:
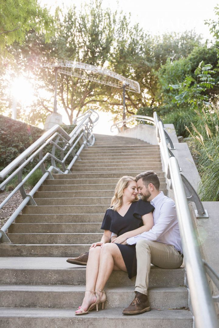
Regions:
<instances>
[{"instance_id":1,"label":"man's khaki pants on his bent leg","mask_svg":"<svg viewBox=\"0 0 219 328\"><path fill-rule=\"evenodd\" d=\"M173 245L140 239L136 244L137 277L135 291L147 295L151 263L164 269L177 269L183 263L182 256Z\"/></svg>"}]
</instances>

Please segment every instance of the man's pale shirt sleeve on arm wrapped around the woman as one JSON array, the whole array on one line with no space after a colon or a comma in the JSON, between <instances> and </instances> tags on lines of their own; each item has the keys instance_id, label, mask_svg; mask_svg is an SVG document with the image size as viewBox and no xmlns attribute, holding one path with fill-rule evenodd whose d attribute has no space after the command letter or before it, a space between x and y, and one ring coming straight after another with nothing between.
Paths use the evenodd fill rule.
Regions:
<instances>
[{"instance_id":1,"label":"man's pale shirt sleeve on arm wrapped around the woman","mask_svg":"<svg viewBox=\"0 0 219 328\"><path fill-rule=\"evenodd\" d=\"M149 230L143 232L141 235L127 239L128 245L134 245L140 239L148 239L156 241L160 236L165 234L175 224L176 208L174 202L164 203L160 210L159 219L156 224Z\"/></svg>"}]
</instances>

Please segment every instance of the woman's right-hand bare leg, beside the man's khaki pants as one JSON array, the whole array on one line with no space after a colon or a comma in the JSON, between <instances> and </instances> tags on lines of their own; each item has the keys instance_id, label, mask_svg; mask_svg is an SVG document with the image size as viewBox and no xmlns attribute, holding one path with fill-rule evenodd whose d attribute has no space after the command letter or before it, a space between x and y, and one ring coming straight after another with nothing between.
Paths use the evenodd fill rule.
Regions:
<instances>
[{"instance_id":1,"label":"woman's right-hand bare leg, beside the man's khaki pants","mask_svg":"<svg viewBox=\"0 0 219 328\"><path fill-rule=\"evenodd\" d=\"M96 289L102 290L113 270L127 272L119 247L113 243L104 244L99 256L99 272ZM102 293L97 291L102 298Z\"/></svg>"}]
</instances>

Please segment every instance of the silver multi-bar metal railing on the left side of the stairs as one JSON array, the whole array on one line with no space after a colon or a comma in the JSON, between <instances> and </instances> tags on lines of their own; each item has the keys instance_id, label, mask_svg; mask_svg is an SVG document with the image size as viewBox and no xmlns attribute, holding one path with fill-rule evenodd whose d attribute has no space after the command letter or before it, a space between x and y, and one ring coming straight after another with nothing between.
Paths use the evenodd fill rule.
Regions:
<instances>
[{"instance_id":1,"label":"silver multi-bar metal railing on the left side of the stairs","mask_svg":"<svg viewBox=\"0 0 219 328\"><path fill-rule=\"evenodd\" d=\"M19 190L23 201L10 216L7 222L3 225L0 230L0 243L10 243L10 239L6 235L6 231L10 227L11 223L15 220L17 215L23 210L26 205L36 205L33 195L42 185L46 179L54 179L52 172L59 174L71 173L71 168L75 161L80 160L79 154L83 148L87 146L92 146L95 142L95 137L93 135L93 127L98 121L99 115L93 110L89 110L86 113L78 117L74 122L77 124L75 129L68 134L65 132L58 124L56 124L49 131L45 132L39 139L37 139L29 148L27 148L22 154L15 158L6 168L0 172L0 181L5 179L0 184L0 189L4 190L5 186L17 175L18 185L11 191L11 193L3 200L0 204L0 210L5 204L11 199L11 197ZM43 154L46 150L46 146L52 144L52 151ZM61 144L61 145L60 145ZM75 149L77 153L75 153ZM56 151L59 150L59 154L56 155ZM37 164L33 169L23 178L23 169L38 157ZM71 156L71 157L70 157ZM70 158L73 159L70 161ZM45 162L51 158L51 166L46 169ZM66 163L68 160L68 166ZM57 167L57 163L59 167ZM43 176L35 184L33 189L29 194L26 194L24 189L25 182L31 177L31 175L40 168ZM15 170L14 170L15 169ZM14 171L13 171L14 170ZM13 172L12 172L13 171ZM12 173L11 173L12 172ZM9 175L9 176L7 176Z\"/></svg>"}]
</instances>

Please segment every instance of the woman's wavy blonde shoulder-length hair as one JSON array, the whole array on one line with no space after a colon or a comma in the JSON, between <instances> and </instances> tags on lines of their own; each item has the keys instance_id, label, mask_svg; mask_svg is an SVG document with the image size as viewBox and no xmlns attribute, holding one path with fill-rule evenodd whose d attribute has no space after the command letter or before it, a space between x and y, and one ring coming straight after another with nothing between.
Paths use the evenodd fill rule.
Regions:
<instances>
[{"instance_id":1,"label":"woman's wavy blonde shoulder-length hair","mask_svg":"<svg viewBox=\"0 0 219 328\"><path fill-rule=\"evenodd\" d=\"M133 176L127 176L124 175L122 176L119 181L117 182L116 188L115 188L115 193L114 196L111 200L111 209L114 211L117 211L121 204L122 204L122 194L123 190L128 187L128 184L130 181L135 181L135 178ZM134 202L136 202L139 199L138 195L136 195Z\"/></svg>"}]
</instances>

